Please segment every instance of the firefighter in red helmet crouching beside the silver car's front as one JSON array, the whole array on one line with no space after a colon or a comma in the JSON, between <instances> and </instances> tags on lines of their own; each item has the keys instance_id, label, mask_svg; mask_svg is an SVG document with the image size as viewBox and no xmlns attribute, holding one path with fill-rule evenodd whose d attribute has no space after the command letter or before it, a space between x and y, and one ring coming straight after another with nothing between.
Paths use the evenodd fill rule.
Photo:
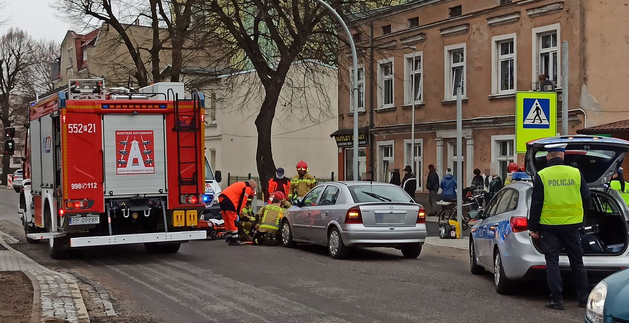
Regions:
<instances>
[{"instance_id":1,"label":"firefighter in red helmet crouching beside the silver car's front","mask_svg":"<svg viewBox=\"0 0 629 323\"><path fill-rule=\"evenodd\" d=\"M253 244L274 245L276 243L279 223L284 217L284 209L280 206L283 201L286 201L286 195L277 191L271 201L272 203L260 208L257 214L260 222L257 224L255 234L253 234Z\"/></svg>"}]
</instances>

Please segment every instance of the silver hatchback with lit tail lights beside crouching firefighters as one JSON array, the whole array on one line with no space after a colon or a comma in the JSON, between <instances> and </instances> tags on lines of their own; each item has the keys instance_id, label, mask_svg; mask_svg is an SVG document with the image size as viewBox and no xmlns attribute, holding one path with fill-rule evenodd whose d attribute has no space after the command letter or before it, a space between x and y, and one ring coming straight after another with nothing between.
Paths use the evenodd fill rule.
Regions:
<instances>
[{"instance_id":1,"label":"silver hatchback with lit tail lights beside crouching firefighters","mask_svg":"<svg viewBox=\"0 0 629 323\"><path fill-rule=\"evenodd\" d=\"M417 258L426 239L423 206L396 185L370 182L321 183L286 211L282 243L327 246L346 258L352 247L389 247Z\"/></svg>"}]
</instances>

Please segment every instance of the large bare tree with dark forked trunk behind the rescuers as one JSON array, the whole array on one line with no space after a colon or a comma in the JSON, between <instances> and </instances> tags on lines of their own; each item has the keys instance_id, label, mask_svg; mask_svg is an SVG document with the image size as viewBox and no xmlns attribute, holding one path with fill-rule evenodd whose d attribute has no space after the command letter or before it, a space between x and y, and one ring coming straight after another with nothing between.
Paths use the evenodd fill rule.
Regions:
<instances>
[{"instance_id":1,"label":"large bare tree with dark forked trunk behind the rescuers","mask_svg":"<svg viewBox=\"0 0 629 323\"><path fill-rule=\"evenodd\" d=\"M385 1L332 0L344 18L353 11L386 6ZM390 2L390 1L389 1ZM271 147L271 126L289 68L310 62L304 77L316 77L316 66L338 66L338 48L347 45L337 33L337 23L312 0L206 0L215 28L225 30L225 40L242 50L264 87L264 101L255 119L257 168L260 178L272 177L276 165ZM346 19L347 21L348 19ZM315 80L316 84L316 80ZM262 181L265 185L265 181Z\"/></svg>"}]
</instances>

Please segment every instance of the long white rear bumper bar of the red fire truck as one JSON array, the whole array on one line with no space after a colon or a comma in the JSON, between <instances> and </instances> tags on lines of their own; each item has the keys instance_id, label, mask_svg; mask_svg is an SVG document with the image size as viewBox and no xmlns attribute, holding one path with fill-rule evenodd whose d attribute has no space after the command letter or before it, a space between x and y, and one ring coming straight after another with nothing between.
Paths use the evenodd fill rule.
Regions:
<instances>
[{"instance_id":1,"label":"long white rear bumper bar of the red fire truck","mask_svg":"<svg viewBox=\"0 0 629 323\"><path fill-rule=\"evenodd\" d=\"M70 238L70 247L108 246L110 244L131 243L177 243L187 240L206 239L206 231L184 231L172 233L119 234L117 236L96 236Z\"/></svg>"}]
</instances>

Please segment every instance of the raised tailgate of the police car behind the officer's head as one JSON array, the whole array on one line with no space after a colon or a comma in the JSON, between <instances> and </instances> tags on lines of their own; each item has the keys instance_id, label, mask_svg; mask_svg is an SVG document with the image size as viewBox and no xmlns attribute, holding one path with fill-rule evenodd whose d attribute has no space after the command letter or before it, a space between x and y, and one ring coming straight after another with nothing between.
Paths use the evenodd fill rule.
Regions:
<instances>
[{"instance_id":1,"label":"raised tailgate of the police car behind the officer's head","mask_svg":"<svg viewBox=\"0 0 629 323\"><path fill-rule=\"evenodd\" d=\"M560 136L535 140L526 147L526 173L535 175L546 168L547 151L544 146L565 143L565 165L581 170L589 187L603 187L629 151L629 141L596 136Z\"/></svg>"}]
</instances>

